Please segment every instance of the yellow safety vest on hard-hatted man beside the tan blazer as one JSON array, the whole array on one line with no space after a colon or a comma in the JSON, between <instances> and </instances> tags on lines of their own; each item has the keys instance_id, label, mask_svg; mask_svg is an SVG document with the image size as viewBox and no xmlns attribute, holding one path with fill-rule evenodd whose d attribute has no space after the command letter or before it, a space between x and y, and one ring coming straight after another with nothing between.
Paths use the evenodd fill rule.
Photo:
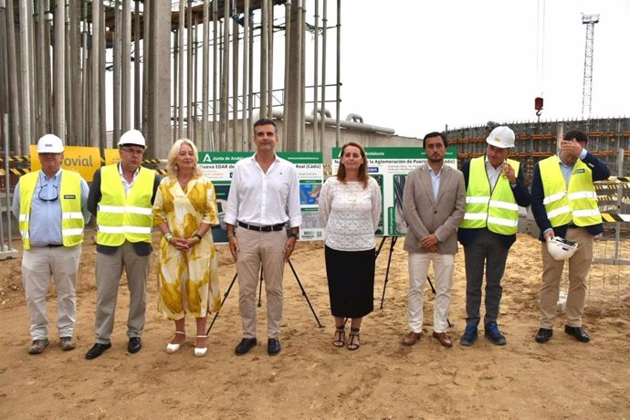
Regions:
<instances>
[{"instance_id":1,"label":"yellow safety vest on hard-hatted man beside the tan blazer","mask_svg":"<svg viewBox=\"0 0 630 420\"><path fill-rule=\"evenodd\" d=\"M506 162L514 168L515 173L519 173L518 161L506 159ZM470 161L466 213L459 227L488 227L490 232L499 235L514 235L519 231L519 205L516 204L509 181L499 176L494 191L490 192L485 156Z\"/></svg>"}]
</instances>

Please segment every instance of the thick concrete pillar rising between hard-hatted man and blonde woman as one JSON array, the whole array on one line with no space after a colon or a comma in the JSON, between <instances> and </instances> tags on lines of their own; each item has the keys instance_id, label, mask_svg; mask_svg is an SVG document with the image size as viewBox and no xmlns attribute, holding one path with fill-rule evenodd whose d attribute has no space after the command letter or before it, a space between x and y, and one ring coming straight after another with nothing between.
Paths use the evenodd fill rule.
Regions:
<instances>
[{"instance_id":1,"label":"thick concrete pillar rising between hard-hatted man and blonde woman","mask_svg":"<svg viewBox=\"0 0 630 420\"><path fill-rule=\"evenodd\" d=\"M171 4L151 1L149 54L147 66L148 154L165 159L173 144L171 134Z\"/></svg>"}]
</instances>

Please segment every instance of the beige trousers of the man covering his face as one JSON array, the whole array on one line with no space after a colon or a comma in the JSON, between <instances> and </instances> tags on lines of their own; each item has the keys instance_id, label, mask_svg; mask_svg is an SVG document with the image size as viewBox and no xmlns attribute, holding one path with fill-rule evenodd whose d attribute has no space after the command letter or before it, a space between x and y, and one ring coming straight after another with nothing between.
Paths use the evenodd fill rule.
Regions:
<instances>
[{"instance_id":1,"label":"beige trousers of the man covering his face","mask_svg":"<svg viewBox=\"0 0 630 420\"><path fill-rule=\"evenodd\" d=\"M566 239L578 243L577 251L569 259L569 294L566 303L567 325L582 326L586 281L593 262L593 235L583 228L567 230ZM560 280L564 261L556 261L542 242L541 328L551 330L556 317Z\"/></svg>"}]
</instances>

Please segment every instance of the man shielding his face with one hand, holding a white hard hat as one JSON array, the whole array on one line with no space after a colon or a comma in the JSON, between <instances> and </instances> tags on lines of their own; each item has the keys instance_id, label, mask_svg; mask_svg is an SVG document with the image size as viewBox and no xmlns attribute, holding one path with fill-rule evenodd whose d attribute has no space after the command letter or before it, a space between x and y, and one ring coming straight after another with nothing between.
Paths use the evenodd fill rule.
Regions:
<instances>
[{"instance_id":1,"label":"man shielding his face with one hand, holding a white hard hat","mask_svg":"<svg viewBox=\"0 0 630 420\"><path fill-rule=\"evenodd\" d=\"M541 228L542 244L541 320L535 340L541 343L553 335L565 261L569 293L564 331L578 341L591 341L582 326L586 280L593 262L593 237L604 232L593 182L608 179L610 170L586 151L586 142L582 131L567 131L559 152L534 166L531 212ZM577 249L563 247L567 252L558 252L567 242L576 243Z\"/></svg>"}]
</instances>

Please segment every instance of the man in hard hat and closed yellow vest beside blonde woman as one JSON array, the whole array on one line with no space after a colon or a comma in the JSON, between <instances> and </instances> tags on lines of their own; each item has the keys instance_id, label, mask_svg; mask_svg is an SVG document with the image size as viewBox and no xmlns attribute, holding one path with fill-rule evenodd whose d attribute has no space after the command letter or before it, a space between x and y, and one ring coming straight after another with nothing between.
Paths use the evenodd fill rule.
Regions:
<instances>
[{"instance_id":1,"label":"man in hard hat and closed yellow vest beside blonde woman","mask_svg":"<svg viewBox=\"0 0 630 420\"><path fill-rule=\"evenodd\" d=\"M142 348L146 310L146 278L152 247L152 205L160 177L141 166L146 142L142 132L126 131L118 142L121 162L94 173L88 208L96 216L96 320L94 346L86 359L95 359L111 347L114 312L122 269L130 291L127 351Z\"/></svg>"}]
</instances>

